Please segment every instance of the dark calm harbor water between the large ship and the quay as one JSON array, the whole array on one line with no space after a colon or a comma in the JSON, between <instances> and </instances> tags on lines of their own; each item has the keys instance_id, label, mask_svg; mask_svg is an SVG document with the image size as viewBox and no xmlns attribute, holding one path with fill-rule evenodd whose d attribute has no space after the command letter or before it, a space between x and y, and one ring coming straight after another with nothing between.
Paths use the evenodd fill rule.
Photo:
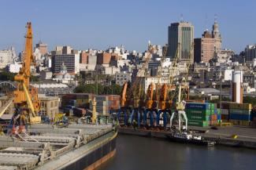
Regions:
<instances>
[{"instance_id":1,"label":"dark calm harbor water between the large ship and the quay","mask_svg":"<svg viewBox=\"0 0 256 170\"><path fill-rule=\"evenodd\" d=\"M256 169L256 150L195 146L165 139L118 135L117 154L97 170Z\"/></svg>"}]
</instances>

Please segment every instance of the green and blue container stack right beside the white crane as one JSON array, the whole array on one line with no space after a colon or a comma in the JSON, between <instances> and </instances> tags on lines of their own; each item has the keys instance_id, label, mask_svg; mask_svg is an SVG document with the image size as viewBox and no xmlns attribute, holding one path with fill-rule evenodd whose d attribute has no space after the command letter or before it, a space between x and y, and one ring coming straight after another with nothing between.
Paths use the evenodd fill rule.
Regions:
<instances>
[{"instance_id":1,"label":"green and blue container stack right beside the white crane","mask_svg":"<svg viewBox=\"0 0 256 170\"><path fill-rule=\"evenodd\" d=\"M207 127L221 121L220 110L213 103L187 103L185 111L191 126Z\"/></svg>"}]
</instances>

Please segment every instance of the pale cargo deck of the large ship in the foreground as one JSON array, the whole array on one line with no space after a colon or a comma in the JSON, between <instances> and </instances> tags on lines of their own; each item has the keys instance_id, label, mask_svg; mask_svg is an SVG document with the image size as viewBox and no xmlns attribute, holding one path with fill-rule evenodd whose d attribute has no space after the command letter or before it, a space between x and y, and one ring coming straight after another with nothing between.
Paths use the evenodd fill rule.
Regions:
<instances>
[{"instance_id":1,"label":"pale cargo deck of the large ship in the foreground","mask_svg":"<svg viewBox=\"0 0 256 170\"><path fill-rule=\"evenodd\" d=\"M0 136L0 169L62 169L107 143L112 125L31 125L17 136Z\"/></svg>"}]
</instances>

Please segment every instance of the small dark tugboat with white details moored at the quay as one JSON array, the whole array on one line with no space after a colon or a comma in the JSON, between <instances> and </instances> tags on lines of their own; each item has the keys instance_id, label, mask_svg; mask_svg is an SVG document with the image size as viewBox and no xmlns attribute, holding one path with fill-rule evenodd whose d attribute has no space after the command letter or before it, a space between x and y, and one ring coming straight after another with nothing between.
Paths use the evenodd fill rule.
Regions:
<instances>
[{"instance_id":1,"label":"small dark tugboat with white details moored at the quay","mask_svg":"<svg viewBox=\"0 0 256 170\"><path fill-rule=\"evenodd\" d=\"M191 132L180 132L180 131L172 131L166 135L168 139L173 142L178 143L191 143L196 145L203 145L203 146L214 146L216 142L203 139L202 136L196 136Z\"/></svg>"}]
</instances>

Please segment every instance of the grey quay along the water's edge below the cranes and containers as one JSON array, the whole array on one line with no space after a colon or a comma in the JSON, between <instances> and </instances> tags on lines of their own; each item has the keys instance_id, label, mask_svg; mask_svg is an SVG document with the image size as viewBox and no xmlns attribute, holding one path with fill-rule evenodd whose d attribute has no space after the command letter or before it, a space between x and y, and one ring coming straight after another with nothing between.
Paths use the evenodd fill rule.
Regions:
<instances>
[{"instance_id":1,"label":"grey quay along the water's edge below the cranes and containers","mask_svg":"<svg viewBox=\"0 0 256 170\"><path fill-rule=\"evenodd\" d=\"M201 128L189 126L189 130L195 131L199 136L209 139L210 141L217 142L217 145L223 146L239 146L246 147L250 149L256 149L256 129L247 128L242 126L232 126L232 127L218 127L217 130L211 128ZM169 131L165 130L155 130L146 128L130 128L121 127L118 129L120 134L135 135L135 136L148 136L154 138L166 138L165 135ZM238 136L233 139L232 136Z\"/></svg>"}]
</instances>

